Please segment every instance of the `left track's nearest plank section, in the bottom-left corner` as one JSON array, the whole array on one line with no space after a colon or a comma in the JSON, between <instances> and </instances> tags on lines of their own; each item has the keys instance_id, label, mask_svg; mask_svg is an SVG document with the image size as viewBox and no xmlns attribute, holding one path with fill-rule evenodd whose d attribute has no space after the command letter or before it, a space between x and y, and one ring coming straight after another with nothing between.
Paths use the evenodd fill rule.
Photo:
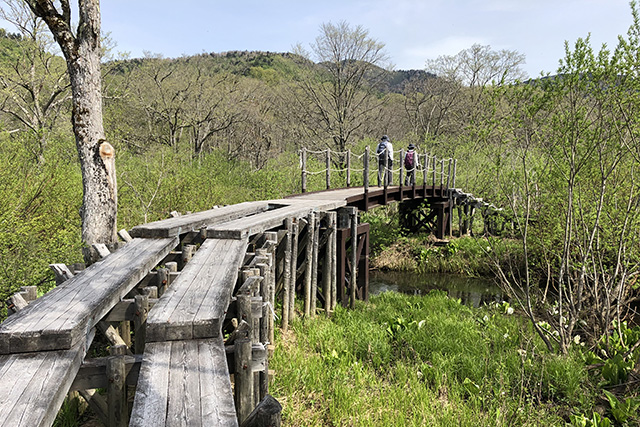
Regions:
<instances>
[{"instance_id":1,"label":"left track's nearest plank section, in the bottom-left corner","mask_svg":"<svg viewBox=\"0 0 640 427\"><path fill-rule=\"evenodd\" d=\"M0 425L52 425L84 353L78 346L0 356Z\"/></svg>"}]
</instances>

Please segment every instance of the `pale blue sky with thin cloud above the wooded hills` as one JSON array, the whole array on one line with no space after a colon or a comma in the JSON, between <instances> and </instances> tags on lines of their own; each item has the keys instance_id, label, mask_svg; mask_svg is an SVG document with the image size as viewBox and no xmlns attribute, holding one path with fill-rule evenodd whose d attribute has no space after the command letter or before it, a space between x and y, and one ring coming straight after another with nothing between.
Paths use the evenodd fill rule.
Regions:
<instances>
[{"instance_id":1,"label":"pale blue sky with thin cloud above the wooded hills","mask_svg":"<svg viewBox=\"0 0 640 427\"><path fill-rule=\"evenodd\" d=\"M524 53L532 77L556 70L565 40L591 33L593 46L613 47L631 24L628 0L102 0L101 9L103 31L131 57L286 52L344 20L384 43L396 69L479 43Z\"/></svg>"}]
</instances>

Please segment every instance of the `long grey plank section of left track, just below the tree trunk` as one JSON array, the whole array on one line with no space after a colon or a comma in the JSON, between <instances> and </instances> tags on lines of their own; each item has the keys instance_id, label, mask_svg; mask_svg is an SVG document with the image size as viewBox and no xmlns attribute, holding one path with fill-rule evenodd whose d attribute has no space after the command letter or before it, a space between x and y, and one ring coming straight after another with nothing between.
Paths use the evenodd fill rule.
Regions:
<instances>
[{"instance_id":1,"label":"long grey plank section of left track, just below the tree trunk","mask_svg":"<svg viewBox=\"0 0 640 427\"><path fill-rule=\"evenodd\" d=\"M134 239L0 325L0 354L69 349L178 243Z\"/></svg>"}]
</instances>

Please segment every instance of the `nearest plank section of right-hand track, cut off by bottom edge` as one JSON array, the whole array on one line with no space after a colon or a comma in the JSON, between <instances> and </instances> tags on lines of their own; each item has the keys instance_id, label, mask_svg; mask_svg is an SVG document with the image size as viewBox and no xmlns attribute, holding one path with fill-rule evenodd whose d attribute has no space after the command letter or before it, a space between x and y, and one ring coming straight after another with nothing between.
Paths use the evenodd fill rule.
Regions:
<instances>
[{"instance_id":1,"label":"nearest plank section of right-hand track, cut off by bottom edge","mask_svg":"<svg viewBox=\"0 0 640 427\"><path fill-rule=\"evenodd\" d=\"M130 427L237 426L222 337L148 343Z\"/></svg>"}]
</instances>

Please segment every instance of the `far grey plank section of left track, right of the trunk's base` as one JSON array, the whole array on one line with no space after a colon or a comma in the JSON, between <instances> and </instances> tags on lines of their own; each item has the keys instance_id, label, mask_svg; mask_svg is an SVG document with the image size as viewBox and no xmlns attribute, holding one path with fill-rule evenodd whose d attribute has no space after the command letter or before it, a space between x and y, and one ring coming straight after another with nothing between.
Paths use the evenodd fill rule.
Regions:
<instances>
[{"instance_id":1,"label":"far grey plank section of left track, right of the trunk's base","mask_svg":"<svg viewBox=\"0 0 640 427\"><path fill-rule=\"evenodd\" d=\"M172 237L190 231L200 230L211 225L232 221L244 216L264 212L269 209L269 202L244 202L237 205L224 206L169 218L148 224L138 225L131 229L133 237Z\"/></svg>"}]
</instances>

